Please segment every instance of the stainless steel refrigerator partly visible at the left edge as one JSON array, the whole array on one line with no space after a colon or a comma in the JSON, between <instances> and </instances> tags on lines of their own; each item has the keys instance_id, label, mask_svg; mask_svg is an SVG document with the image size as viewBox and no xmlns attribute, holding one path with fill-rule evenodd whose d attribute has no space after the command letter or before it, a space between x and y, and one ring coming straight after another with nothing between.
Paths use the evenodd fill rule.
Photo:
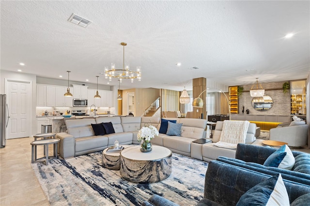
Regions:
<instances>
[{"instance_id":1,"label":"stainless steel refrigerator partly visible at the left edge","mask_svg":"<svg viewBox=\"0 0 310 206\"><path fill-rule=\"evenodd\" d=\"M6 94L0 94L0 146L5 146L6 143L6 128L9 121L9 108L6 103Z\"/></svg>"}]
</instances>

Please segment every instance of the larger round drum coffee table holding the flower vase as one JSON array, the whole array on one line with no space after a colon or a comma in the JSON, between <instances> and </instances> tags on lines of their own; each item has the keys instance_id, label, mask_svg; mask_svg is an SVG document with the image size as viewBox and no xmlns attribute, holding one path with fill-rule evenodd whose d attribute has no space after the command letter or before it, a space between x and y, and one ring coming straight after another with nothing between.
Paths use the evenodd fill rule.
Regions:
<instances>
[{"instance_id":1,"label":"larger round drum coffee table holding the flower vase","mask_svg":"<svg viewBox=\"0 0 310 206\"><path fill-rule=\"evenodd\" d=\"M121 151L121 176L131 182L159 182L171 174L172 152L166 147L153 146L150 152L141 152L140 146Z\"/></svg>"}]
</instances>

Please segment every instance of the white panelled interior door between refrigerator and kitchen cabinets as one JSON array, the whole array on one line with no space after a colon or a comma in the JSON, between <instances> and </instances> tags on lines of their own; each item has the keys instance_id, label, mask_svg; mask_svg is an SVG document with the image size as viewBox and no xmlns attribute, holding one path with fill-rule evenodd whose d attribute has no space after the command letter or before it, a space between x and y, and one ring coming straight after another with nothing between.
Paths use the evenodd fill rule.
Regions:
<instances>
[{"instance_id":1,"label":"white panelled interior door between refrigerator and kitchen cabinets","mask_svg":"<svg viewBox=\"0 0 310 206\"><path fill-rule=\"evenodd\" d=\"M9 107L7 139L29 137L31 134L32 82L5 79Z\"/></svg>"}]
</instances>

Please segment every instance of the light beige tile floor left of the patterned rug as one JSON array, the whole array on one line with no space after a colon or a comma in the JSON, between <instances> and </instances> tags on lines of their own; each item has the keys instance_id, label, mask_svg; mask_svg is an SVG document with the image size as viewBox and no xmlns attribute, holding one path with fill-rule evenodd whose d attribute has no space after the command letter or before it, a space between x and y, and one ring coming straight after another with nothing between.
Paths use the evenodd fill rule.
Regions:
<instances>
[{"instance_id":1,"label":"light beige tile floor left of the patterned rug","mask_svg":"<svg viewBox=\"0 0 310 206\"><path fill-rule=\"evenodd\" d=\"M49 206L31 168L33 140L32 137L9 139L0 149L0 206ZM309 148L292 150L310 153ZM38 146L37 151L38 157L43 156L43 146ZM49 151L52 152L52 146Z\"/></svg>"}]
</instances>

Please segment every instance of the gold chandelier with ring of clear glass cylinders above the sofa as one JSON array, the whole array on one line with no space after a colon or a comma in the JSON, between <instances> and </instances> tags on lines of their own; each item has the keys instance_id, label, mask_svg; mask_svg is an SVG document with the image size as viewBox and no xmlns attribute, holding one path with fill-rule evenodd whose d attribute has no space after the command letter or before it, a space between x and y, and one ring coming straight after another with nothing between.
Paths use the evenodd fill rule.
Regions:
<instances>
[{"instance_id":1,"label":"gold chandelier with ring of clear glass cylinders above the sofa","mask_svg":"<svg viewBox=\"0 0 310 206\"><path fill-rule=\"evenodd\" d=\"M105 78L109 78L109 81L112 81L112 77L119 78L120 83L122 83L122 79L130 79L131 82L134 82L134 79L141 81L140 66L137 66L136 71L129 70L129 65L125 65L125 45L127 44L122 42L121 45L123 46L123 69L115 69L115 63L111 63L110 69L105 67Z\"/></svg>"}]
</instances>

